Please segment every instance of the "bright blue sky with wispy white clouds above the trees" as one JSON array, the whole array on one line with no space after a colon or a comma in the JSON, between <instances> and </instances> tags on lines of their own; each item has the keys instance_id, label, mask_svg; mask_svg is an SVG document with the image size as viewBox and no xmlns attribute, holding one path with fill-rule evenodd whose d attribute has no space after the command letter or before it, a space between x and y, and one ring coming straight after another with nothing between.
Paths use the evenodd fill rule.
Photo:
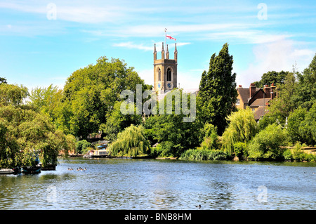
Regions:
<instances>
[{"instance_id":1,"label":"bright blue sky with wispy white clouds above the trees","mask_svg":"<svg viewBox=\"0 0 316 224\"><path fill-rule=\"evenodd\" d=\"M226 42L237 84L270 70L299 71L316 53L315 1L0 1L0 77L27 88L62 86L101 56L153 82L153 48L176 38L178 82L198 88ZM173 58L173 40L168 40ZM158 53L159 55L159 53Z\"/></svg>"}]
</instances>

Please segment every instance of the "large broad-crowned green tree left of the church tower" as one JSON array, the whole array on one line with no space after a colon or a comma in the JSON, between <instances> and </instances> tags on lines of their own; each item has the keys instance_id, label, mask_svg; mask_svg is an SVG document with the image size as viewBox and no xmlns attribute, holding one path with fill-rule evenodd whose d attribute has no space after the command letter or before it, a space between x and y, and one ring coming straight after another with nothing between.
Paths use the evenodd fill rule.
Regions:
<instances>
[{"instance_id":1,"label":"large broad-crowned green tree left of the church tower","mask_svg":"<svg viewBox=\"0 0 316 224\"><path fill-rule=\"evenodd\" d=\"M97 133L107 123L114 104L121 101L121 91L136 94L136 84L142 84L143 91L149 88L124 60L99 58L96 65L77 70L67 79L58 124L79 138Z\"/></svg>"}]
</instances>

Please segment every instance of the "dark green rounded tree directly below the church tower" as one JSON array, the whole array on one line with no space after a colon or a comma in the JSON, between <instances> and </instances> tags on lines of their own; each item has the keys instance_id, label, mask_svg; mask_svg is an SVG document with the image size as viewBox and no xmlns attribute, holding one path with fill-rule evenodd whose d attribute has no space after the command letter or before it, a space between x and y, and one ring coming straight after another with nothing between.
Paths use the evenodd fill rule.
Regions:
<instances>
[{"instance_id":1,"label":"dark green rounded tree directly below the church tower","mask_svg":"<svg viewBox=\"0 0 316 224\"><path fill-rule=\"evenodd\" d=\"M172 98L172 113L167 114L167 99L172 95L178 94ZM174 89L168 93L164 99L158 102L159 105L164 105L165 113L150 116L145 119L146 136L152 140L152 143L159 143L162 150L158 156L162 157L179 157L185 150L199 146L201 143L201 129L203 125L201 122L195 121L184 122L183 118L187 114L183 113L183 100L187 98L187 102L191 102L191 95L183 95L182 90ZM192 103L195 104L195 103ZM191 108L192 106L192 108ZM190 110L195 110L194 106L190 104ZM179 113L175 108L179 109Z\"/></svg>"}]
</instances>

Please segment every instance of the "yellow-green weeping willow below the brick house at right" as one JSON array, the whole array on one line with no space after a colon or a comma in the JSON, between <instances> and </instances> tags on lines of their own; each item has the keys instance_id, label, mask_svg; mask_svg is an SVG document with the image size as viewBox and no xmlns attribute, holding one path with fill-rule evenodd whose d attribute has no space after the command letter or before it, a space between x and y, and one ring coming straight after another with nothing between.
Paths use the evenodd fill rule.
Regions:
<instances>
[{"instance_id":1,"label":"yellow-green weeping willow below the brick house at right","mask_svg":"<svg viewBox=\"0 0 316 224\"><path fill-rule=\"evenodd\" d=\"M229 125L222 136L223 150L232 154L235 143L247 143L256 135L257 123L249 107L233 112L227 119Z\"/></svg>"}]
</instances>

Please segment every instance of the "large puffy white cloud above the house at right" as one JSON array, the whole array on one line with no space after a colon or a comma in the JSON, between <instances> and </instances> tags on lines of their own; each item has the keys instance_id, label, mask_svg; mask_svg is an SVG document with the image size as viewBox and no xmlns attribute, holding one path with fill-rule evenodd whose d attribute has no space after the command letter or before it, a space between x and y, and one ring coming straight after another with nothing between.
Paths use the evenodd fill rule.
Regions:
<instances>
[{"instance_id":1,"label":"large puffy white cloud above the house at right","mask_svg":"<svg viewBox=\"0 0 316 224\"><path fill-rule=\"evenodd\" d=\"M298 71L302 72L315 55L314 51L298 46L291 39L257 44L253 48L253 53L254 62L251 62L246 70L235 71L237 85L249 86L251 82L259 81L265 72L291 71L294 65L297 65Z\"/></svg>"}]
</instances>

